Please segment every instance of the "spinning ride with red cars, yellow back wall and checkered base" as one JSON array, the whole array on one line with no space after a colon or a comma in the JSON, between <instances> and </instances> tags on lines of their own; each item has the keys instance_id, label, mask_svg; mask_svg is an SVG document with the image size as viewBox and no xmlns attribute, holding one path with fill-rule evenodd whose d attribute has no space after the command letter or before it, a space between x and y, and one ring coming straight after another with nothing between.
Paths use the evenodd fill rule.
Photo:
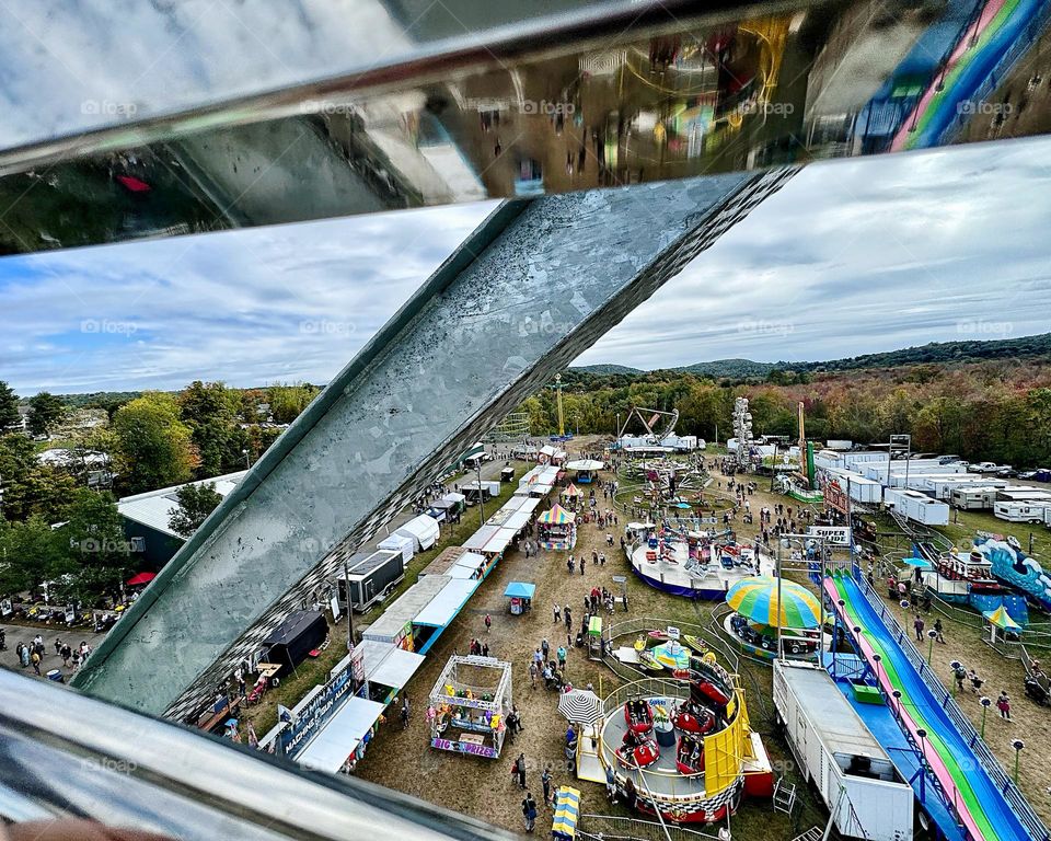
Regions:
<instances>
[{"instance_id":1,"label":"spinning ride with red cars, yellow back wall and checkered base","mask_svg":"<svg viewBox=\"0 0 1051 841\"><path fill-rule=\"evenodd\" d=\"M626 692L627 700L605 711L601 758L621 784L633 782L638 809L668 820L713 822L732 813L746 793L770 796L770 762L748 726L743 691L734 677L712 653L691 655L684 668L669 673L672 681L628 684L616 693Z\"/></svg>"}]
</instances>

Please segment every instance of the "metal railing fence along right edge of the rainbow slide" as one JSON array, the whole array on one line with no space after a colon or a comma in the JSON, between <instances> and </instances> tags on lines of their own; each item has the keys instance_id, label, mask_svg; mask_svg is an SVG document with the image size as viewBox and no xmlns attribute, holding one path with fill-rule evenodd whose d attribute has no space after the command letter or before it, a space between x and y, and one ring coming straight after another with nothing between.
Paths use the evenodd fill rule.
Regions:
<instances>
[{"instance_id":1,"label":"metal railing fence along right edge of the rainbow slide","mask_svg":"<svg viewBox=\"0 0 1051 841\"><path fill-rule=\"evenodd\" d=\"M938 679L935 670L927 665L923 655L920 654L920 650L912 644L909 634L901 627L898 620L894 619L894 615L887 610L887 606L883 604L882 599L879 598L876 590L868 585L868 581L866 581L864 577L857 576L857 583L865 598L868 600L869 606L880 618L883 625L893 634L896 642L902 652L904 652L909 663L912 664L912 667L923 679L923 682L927 684L927 689L931 690L935 700L942 704L942 708L945 710L946 715L948 715L965 741L967 741L978 758L979 763L985 769L993 782L996 783L1004 798L1010 805L1012 809L1014 809L1029 834L1033 839L1037 839L1037 841L1051 841L1051 833L1048 832L1048 828L1043 825L1043 821L1040 820L1037 813L1033 811L1032 806L1029 805L1029 802L1018 790L1018 786L1015 785L1007 775L1007 772L1004 771L1003 765L1001 765L996 757L993 756L989 746L982 740L982 737L978 735L974 725L971 724L971 721L963 714L959 704L956 703L952 695Z\"/></svg>"}]
</instances>

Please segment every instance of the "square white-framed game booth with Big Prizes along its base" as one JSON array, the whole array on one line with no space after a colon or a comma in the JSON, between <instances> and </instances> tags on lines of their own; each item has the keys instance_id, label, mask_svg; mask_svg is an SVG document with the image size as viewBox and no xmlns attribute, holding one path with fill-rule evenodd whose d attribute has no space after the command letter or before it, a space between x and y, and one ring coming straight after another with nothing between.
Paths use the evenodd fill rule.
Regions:
<instances>
[{"instance_id":1,"label":"square white-framed game booth with Big Prizes along its base","mask_svg":"<svg viewBox=\"0 0 1051 841\"><path fill-rule=\"evenodd\" d=\"M497 759L511 710L511 664L495 657L454 655L430 693L430 746Z\"/></svg>"}]
</instances>

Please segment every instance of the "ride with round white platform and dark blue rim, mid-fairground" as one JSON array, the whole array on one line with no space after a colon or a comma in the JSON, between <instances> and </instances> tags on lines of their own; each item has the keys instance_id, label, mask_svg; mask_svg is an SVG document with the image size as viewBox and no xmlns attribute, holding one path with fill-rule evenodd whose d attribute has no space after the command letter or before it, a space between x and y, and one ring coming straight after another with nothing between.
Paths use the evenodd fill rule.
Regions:
<instances>
[{"instance_id":1,"label":"ride with round white platform and dark blue rim, mid-fairground","mask_svg":"<svg viewBox=\"0 0 1051 841\"><path fill-rule=\"evenodd\" d=\"M731 532L652 523L628 523L625 532L635 575L673 596L718 601L737 583L774 566L753 546L737 543Z\"/></svg>"}]
</instances>

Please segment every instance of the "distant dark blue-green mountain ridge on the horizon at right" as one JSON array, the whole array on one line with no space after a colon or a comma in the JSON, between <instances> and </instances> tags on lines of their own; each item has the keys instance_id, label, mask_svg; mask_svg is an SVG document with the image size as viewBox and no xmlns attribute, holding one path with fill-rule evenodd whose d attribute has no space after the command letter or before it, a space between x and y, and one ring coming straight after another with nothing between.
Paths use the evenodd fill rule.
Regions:
<instances>
[{"instance_id":1,"label":"distant dark blue-green mountain ridge on the horizon at right","mask_svg":"<svg viewBox=\"0 0 1051 841\"><path fill-rule=\"evenodd\" d=\"M981 326L975 322L975 330ZM844 359L820 362L757 362L751 359L715 359L709 362L672 368L672 371L694 373L715 379L765 378L774 370L783 371L848 371L865 368L896 368L905 365L937 365L946 362L974 362L990 359L1031 359L1048 357L1051 360L1051 333L1021 338L963 339L960 342L931 342L926 345L887 350L881 354L865 354ZM623 365L586 365L575 371L596 375L642 375L646 371Z\"/></svg>"}]
</instances>

